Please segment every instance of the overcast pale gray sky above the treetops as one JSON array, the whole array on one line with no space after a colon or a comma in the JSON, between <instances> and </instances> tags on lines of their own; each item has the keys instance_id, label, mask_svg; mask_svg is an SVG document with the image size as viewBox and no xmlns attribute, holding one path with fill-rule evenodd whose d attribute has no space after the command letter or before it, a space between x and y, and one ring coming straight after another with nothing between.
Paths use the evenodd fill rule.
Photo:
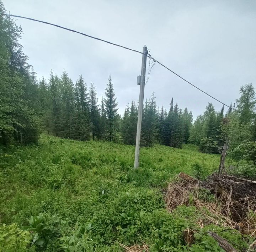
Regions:
<instances>
[{"instance_id":1,"label":"overcast pale gray sky above the treetops","mask_svg":"<svg viewBox=\"0 0 256 252\"><path fill-rule=\"evenodd\" d=\"M142 50L226 104L239 98L239 87L256 83L256 1L3 0L8 12L62 25ZM72 80L81 73L104 95L111 73L119 113L139 98L142 55L45 24L22 20L23 51L38 78L65 69ZM149 67L147 65L147 72ZM147 73L146 72L146 73ZM222 107L156 64L145 87L158 106L203 113L208 102Z\"/></svg>"}]
</instances>

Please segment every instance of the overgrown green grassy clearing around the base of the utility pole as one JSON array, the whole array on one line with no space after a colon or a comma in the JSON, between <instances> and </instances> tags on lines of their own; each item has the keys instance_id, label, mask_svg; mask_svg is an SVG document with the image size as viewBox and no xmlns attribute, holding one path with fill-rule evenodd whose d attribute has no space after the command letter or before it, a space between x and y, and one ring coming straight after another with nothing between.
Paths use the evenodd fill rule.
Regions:
<instances>
[{"instance_id":1,"label":"overgrown green grassy clearing around the base of the utility pole","mask_svg":"<svg viewBox=\"0 0 256 252\"><path fill-rule=\"evenodd\" d=\"M33 246L27 241L27 251L123 251L120 244L141 243L150 251L212 251L207 228L195 245L186 245L182 232L194 226L195 209L168 213L164 188L180 171L194 175L194 163L206 177L218 168L219 155L156 145L141 148L140 168L133 170L134 149L43 135L38 146L2 152L0 223L17 223L18 231L30 225L31 239L38 235ZM31 216L45 220L37 226L35 219L28 223Z\"/></svg>"}]
</instances>

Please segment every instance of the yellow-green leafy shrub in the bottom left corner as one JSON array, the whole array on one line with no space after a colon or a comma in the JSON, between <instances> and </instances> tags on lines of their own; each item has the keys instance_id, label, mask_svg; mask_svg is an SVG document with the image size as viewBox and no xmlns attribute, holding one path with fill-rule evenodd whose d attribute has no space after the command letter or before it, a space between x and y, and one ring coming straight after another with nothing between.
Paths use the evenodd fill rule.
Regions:
<instances>
[{"instance_id":1,"label":"yellow-green leafy shrub in the bottom left corner","mask_svg":"<svg viewBox=\"0 0 256 252\"><path fill-rule=\"evenodd\" d=\"M30 233L18 228L17 223L0 225L0 251L24 252L30 242Z\"/></svg>"}]
</instances>

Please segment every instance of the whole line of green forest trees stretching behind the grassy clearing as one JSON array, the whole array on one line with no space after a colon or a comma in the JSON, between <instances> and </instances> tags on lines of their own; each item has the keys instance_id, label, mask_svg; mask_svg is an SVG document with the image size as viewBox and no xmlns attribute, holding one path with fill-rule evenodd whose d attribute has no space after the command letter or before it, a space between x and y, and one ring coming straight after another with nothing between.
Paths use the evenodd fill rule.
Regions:
<instances>
[{"instance_id":1,"label":"whole line of green forest trees stretching behind the grassy clearing","mask_svg":"<svg viewBox=\"0 0 256 252\"><path fill-rule=\"evenodd\" d=\"M0 2L0 13L5 12ZM36 143L42 131L81 141L135 145L138 103L132 101L120 116L111 76L100 101L94 83L87 85L82 75L75 83L66 71L61 76L50 72L48 80L38 80L18 43L21 32L10 17L0 15L1 145ZM240 93L225 114L224 107L216 111L209 103L194 122L192 111L179 108L174 99L169 108L159 109L153 93L143 106L141 145L158 143L181 148L191 143L204 153L219 153L225 142L236 157L244 157L239 150L250 143L247 148L254 155L255 90L252 84L246 84Z\"/></svg>"}]
</instances>

